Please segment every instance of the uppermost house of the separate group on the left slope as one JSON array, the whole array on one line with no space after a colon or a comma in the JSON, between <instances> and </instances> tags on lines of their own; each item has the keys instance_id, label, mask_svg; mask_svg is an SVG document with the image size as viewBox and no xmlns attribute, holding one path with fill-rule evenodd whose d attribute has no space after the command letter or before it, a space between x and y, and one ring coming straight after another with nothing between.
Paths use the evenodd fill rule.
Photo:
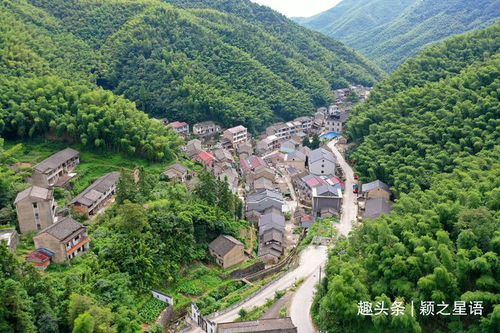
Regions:
<instances>
[{"instance_id":1,"label":"uppermost house of the separate group on the left slope","mask_svg":"<svg viewBox=\"0 0 500 333\"><path fill-rule=\"evenodd\" d=\"M30 183L40 187L63 185L80 163L79 156L80 153L71 148L55 153L33 167Z\"/></svg>"}]
</instances>

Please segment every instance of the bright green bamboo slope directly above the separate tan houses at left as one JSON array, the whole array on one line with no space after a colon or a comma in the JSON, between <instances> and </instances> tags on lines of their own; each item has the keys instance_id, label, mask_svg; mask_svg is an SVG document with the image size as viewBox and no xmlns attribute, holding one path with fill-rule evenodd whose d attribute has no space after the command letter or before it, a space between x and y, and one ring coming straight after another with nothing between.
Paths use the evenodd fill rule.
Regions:
<instances>
[{"instance_id":1,"label":"bright green bamboo slope directly above the separate tan houses at left","mask_svg":"<svg viewBox=\"0 0 500 333\"><path fill-rule=\"evenodd\" d=\"M89 148L171 160L182 140L93 83L97 54L44 11L0 4L0 136L51 135Z\"/></svg>"}]
</instances>

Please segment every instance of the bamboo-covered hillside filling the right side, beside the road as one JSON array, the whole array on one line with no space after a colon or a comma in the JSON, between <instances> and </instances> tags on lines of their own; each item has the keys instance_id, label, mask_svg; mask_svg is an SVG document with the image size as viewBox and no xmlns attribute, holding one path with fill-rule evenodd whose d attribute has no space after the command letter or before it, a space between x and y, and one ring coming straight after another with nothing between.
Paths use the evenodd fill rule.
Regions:
<instances>
[{"instance_id":1,"label":"bamboo-covered hillside filling the right side, beside the road","mask_svg":"<svg viewBox=\"0 0 500 333\"><path fill-rule=\"evenodd\" d=\"M322 330L498 328L499 39L496 25L433 46L355 108L350 158L363 180L380 178L399 198L330 254L313 307ZM360 301L401 302L406 311L363 316ZM433 315L421 312L422 301L434 302ZM467 316L442 314L455 301ZM482 316L469 314L473 301L482 301ZM451 306L437 314L442 302Z\"/></svg>"}]
</instances>

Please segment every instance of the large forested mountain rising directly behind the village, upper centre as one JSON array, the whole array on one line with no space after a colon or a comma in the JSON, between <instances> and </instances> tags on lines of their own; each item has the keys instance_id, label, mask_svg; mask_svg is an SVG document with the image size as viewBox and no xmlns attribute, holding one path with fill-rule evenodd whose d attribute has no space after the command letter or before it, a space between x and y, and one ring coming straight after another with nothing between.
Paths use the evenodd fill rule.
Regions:
<instances>
[{"instance_id":1,"label":"large forested mountain rising directly behind the village, upper centre","mask_svg":"<svg viewBox=\"0 0 500 333\"><path fill-rule=\"evenodd\" d=\"M381 76L340 42L250 1L169 2L29 1L92 49L100 86L172 120L258 130Z\"/></svg>"}]
</instances>

